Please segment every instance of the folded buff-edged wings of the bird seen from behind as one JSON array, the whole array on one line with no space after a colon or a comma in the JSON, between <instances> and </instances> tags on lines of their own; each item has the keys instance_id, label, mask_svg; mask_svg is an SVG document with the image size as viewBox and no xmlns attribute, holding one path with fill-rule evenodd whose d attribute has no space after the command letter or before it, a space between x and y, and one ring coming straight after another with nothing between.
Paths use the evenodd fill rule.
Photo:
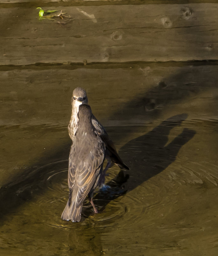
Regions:
<instances>
[{"instance_id":1,"label":"folded buff-edged wings of the bird seen from behind","mask_svg":"<svg viewBox=\"0 0 218 256\"><path fill-rule=\"evenodd\" d=\"M99 138L100 140L100 138ZM76 207L79 207L95 185L95 182L103 167L105 157L105 145L101 142L93 147L88 156L81 158L77 164L69 163L68 185L73 187L76 183L78 188L75 198ZM70 159L69 159L70 161ZM74 190L74 188L73 188Z\"/></svg>"}]
</instances>

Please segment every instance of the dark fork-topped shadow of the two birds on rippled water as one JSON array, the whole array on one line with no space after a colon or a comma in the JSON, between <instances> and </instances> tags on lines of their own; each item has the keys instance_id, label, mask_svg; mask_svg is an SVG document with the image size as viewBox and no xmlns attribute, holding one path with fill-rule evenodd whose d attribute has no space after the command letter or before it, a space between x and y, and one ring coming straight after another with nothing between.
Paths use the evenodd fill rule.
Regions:
<instances>
[{"instance_id":1,"label":"dark fork-topped shadow of the two birds on rippled water","mask_svg":"<svg viewBox=\"0 0 218 256\"><path fill-rule=\"evenodd\" d=\"M130 164L128 163L130 171L121 170L113 180L107 183L111 187L110 189L100 191L95 195L96 200L101 199L101 210L111 200L137 188L143 182L164 171L175 161L180 148L196 133L194 130L184 128L181 134L167 144L170 130L180 126L186 118L187 114L170 117L147 134L129 141L121 148L123 156L126 158L124 159L131 159ZM129 179L130 176L132 178Z\"/></svg>"}]
</instances>

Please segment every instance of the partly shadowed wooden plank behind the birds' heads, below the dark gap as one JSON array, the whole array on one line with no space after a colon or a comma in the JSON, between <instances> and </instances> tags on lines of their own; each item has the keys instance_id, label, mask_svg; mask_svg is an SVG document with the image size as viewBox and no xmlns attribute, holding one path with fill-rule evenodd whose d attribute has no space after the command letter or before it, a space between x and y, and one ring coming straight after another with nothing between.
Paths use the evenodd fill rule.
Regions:
<instances>
[{"instance_id":1,"label":"partly shadowed wooden plank behind the birds' heads, below the dark gap","mask_svg":"<svg viewBox=\"0 0 218 256\"><path fill-rule=\"evenodd\" d=\"M0 76L0 125L67 128L72 92L78 86L87 90L104 126L140 126L173 109L193 118L202 117L203 109L207 119L217 116L217 84L216 65L11 68Z\"/></svg>"}]
</instances>

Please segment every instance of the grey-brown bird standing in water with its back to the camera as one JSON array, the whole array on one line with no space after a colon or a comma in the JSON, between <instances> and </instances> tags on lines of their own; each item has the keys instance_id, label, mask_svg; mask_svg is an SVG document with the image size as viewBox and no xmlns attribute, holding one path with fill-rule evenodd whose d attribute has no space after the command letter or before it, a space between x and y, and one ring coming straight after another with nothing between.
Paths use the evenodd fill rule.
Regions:
<instances>
[{"instance_id":1,"label":"grey-brown bird standing in water with its back to the camera","mask_svg":"<svg viewBox=\"0 0 218 256\"><path fill-rule=\"evenodd\" d=\"M78 108L78 127L71 145L68 165L69 199L61 215L63 220L79 222L83 202L88 199L98 213L92 197L103 175L105 144L92 124L91 107Z\"/></svg>"}]
</instances>

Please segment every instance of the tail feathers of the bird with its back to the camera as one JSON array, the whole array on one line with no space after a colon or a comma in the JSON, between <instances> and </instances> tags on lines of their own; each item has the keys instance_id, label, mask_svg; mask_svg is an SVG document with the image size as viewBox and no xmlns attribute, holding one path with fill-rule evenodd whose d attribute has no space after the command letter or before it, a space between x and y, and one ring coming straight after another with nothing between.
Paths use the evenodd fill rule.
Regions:
<instances>
[{"instance_id":1,"label":"tail feathers of the bird with its back to the camera","mask_svg":"<svg viewBox=\"0 0 218 256\"><path fill-rule=\"evenodd\" d=\"M69 206L69 200L67 201L67 205L64 208L64 211L61 215L61 219L65 221L73 221L73 222L79 222L81 220L81 211L82 211L82 205L80 205L78 208L76 208L75 203L71 203Z\"/></svg>"}]
</instances>

